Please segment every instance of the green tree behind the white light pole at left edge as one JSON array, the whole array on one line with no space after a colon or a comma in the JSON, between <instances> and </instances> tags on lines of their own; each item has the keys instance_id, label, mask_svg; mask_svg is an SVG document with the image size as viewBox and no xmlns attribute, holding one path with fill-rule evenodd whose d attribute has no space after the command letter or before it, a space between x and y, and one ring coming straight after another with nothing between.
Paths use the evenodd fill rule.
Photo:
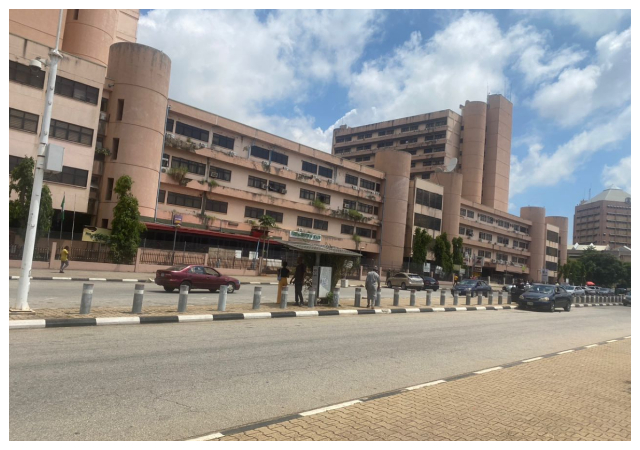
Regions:
<instances>
[{"instance_id":1,"label":"green tree behind the white light pole at left edge","mask_svg":"<svg viewBox=\"0 0 640 450\"><path fill-rule=\"evenodd\" d=\"M31 206L31 193L33 191L33 178L35 161L28 157L20 161L9 175L9 196L16 193L15 200L9 200L9 226L18 227L20 236L24 239L29 222L29 208ZM38 213L38 227L36 236L44 236L51 228L53 218L53 203L51 191L46 184L42 186L40 196L40 210Z\"/></svg>"}]
</instances>

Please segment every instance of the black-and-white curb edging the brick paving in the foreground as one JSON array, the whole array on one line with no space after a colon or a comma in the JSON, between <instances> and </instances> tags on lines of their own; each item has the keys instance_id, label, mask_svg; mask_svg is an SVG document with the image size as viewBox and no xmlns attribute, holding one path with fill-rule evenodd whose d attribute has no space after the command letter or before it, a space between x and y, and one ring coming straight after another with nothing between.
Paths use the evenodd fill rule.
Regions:
<instances>
[{"instance_id":1,"label":"black-and-white curb edging the brick paving in the foreground","mask_svg":"<svg viewBox=\"0 0 640 450\"><path fill-rule=\"evenodd\" d=\"M481 376L485 373L488 372L494 372L496 370L502 370L502 369L508 369L511 367L515 367L515 366L519 366L522 364L531 364L532 362L535 361L540 361L543 359L548 359L548 358L553 358L553 357L558 357L558 356L562 356L568 353L575 353L577 351L581 351L581 350L588 350L589 348L592 347L597 347L600 345L607 345L613 342L617 342L617 341L623 341L625 339L631 339L631 336L625 336L625 337L619 337L616 339L610 339L608 341L601 341L601 342L596 342L593 344L589 344L589 345L582 345L579 347L574 347L571 349L567 349L567 350L563 350L560 352L553 352L553 353L547 353L546 355L539 355L536 357L532 357L529 359L524 359L524 360L518 360L518 361L513 361L510 363L506 363L506 364L501 364L499 366L496 367L490 367L487 369L481 369L481 370L476 370L473 372L466 372L466 373L461 373L458 375L453 375L451 377L447 377L447 378L442 378L439 380L434 380L434 381L429 381L427 383L423 383L423 384L418 384L416 386L410 386L410 387L406 387L406 388L400 388L400 389L394 389L391 391L386 391L386 392L381 392L378 394L373 394L373 395L369 395L367 397L361 397L358 399L354 399L354 400L349 400L346 402L342 402L342 403L338 403L335 405L329 405L329 406L324 406L321 408L317 408L317 409L313 409L310 411L304 411L304 412L299 412L296 414L288 414L286 416L280 416L280 417L276 417L273 419L267 419L267 420L263 420L260 422L254 422L254 423L250 423L247 425L241 425L241 426L237 426L237 427L232 427L232 428L227 428L225 430L220 430L217 431L215 433L209 433L206 435L201 435L201 436L195 436L189 439L185 439L185 441L207 441L207 440L212 440L212 439L219 439L221 437L224 436L231 436L233 434L238 434L238 433L244 433L247 431L251 431L251 430L255 430L258 428L263 428L269 425L275 425L278 423L283 423L283 422L288 422L290 420L295 420L295 419L301 419L307 416L312 416L314 414L320 414L323 412L327 412L327 411L333 411L336 409L340 409L340 408L346 408L347 406L352 406L352 405L356 405L358 403L366 403L366 402L370 402L372 400L377 400L379 398L385 398L385 397L391 397L393 395L398 395L398 394L403 394L405 392L410 392L416 389L424 389L424 388L428 388L431 386L436 386L438 384L442 384L442 383L450 383L452 381L457 381L457 380L462 380L464 378L469 378L469 377L473 377L473 376Z\"/></svg>"}]
</instances>

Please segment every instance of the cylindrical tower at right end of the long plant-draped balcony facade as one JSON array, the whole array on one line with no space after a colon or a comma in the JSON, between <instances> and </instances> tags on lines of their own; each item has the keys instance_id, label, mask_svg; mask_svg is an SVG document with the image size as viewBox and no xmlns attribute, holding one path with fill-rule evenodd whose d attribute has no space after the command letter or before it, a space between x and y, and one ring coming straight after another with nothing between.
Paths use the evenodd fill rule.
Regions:
<instances>
[{"instance_id":1,"label":"cylindrical tower at right end of the long plant-draped balcony facade","mask_svg":"<svg viewBox=\"0 0 640 450\"><path fill-rule=\"evenodd\" d=\"M375 154L374 167L385 173L380 269L399 269L402 267L404 256L411 155L398 150L383 150Z\"/></svg>"}]
</instances>

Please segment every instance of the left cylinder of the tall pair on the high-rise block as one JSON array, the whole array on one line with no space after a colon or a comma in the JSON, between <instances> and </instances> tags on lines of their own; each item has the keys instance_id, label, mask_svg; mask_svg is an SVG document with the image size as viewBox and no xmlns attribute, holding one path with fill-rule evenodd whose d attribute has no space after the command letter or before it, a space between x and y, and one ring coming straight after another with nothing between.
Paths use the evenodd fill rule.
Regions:
<instances>
[{"instance_id":1,"label":"left cylinder of the tall pair on the high-rise block","mask_svg":"<svg viewBox=\"0 0 640 450\"><path fill-rule=\"evenodd\" d=\"M482 173L484 141L487 128L487 104L467 101L462 108L463 142L462 196L475 203L482 203Z\"/></svg>"}]
</instances>

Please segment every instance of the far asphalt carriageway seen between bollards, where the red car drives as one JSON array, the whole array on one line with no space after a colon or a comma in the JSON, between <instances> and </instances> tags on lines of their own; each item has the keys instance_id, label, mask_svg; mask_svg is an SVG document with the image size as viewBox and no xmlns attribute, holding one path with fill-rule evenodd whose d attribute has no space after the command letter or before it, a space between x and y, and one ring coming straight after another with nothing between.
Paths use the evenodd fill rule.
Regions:
<instances>
[{"instance_id":1,"label":"far asphalt carriageway seen between bollards, where the red car drives","mask_svg":"<svg viewBox=\"0 0 640 450\"><path fill-rule=\"evenodd\" d=\"M41 281L32 280L29 289L29 306L31 308L77 308L80 306L80 298L82 297L82 281ZM119 307L131 306L133 302L133 290L136 283L133 282L93 282L93 301L92 306L96 307ZM240 289L227 297L227 303L252 303L253 288L255 285L241 285ZM262 302L273 303L278 293L278 286L264 285L262 287ZM289 289L289 302L293 298L293 286ZM9 281L9 295L13 298L18 292L18 281ZM497 291L496 301L497 301ZM382 294L385 297L393 297L393 289L383 288ZM354 298L355 288L343 288L340 290L343 298ZM366 302L366 293L363 295ZM410 292L408 290L400 291L400 298L407 300L408 304ZM420 304L425 303L426 293L419 292L418 299ZM165 292L162 287L154 283L145 283L144 305L146 306L177 306L178 291L172 293ZM451 293L447 290L447 296ZM440 291L433 294L434 302L440 298ZM506 295L505 295L506 299ZM475 299L474 299L475 300ZM305 294L306 301L306 294ZM505 300L506 301L506 300ZM189 305L212 305L218 303L218 294L211 293L204 289L195 289L189 294Z\"/></svg>"}]
</instances>

